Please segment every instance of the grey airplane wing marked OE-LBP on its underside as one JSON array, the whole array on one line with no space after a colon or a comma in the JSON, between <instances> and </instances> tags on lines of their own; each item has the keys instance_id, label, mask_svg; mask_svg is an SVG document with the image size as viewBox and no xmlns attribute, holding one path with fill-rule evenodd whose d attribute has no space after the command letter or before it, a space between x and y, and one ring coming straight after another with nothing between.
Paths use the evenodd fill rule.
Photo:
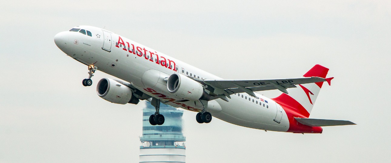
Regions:
<instances>
[{"instance_id":1,"label":"grey airplane wing marked OE-LBP on its underside","mask_svg":"<svg viewBox=\"0 0 391 163\"><path fill-rule=\"evenodd\" d=\"M190 77L190 76L188 76ZM192 78L194 79L194 78ZM251 96L255 96L255 91L265 91L278 89L283 93L287 93L287 88L295 88L295 85L314 83L314 82L324 82L325 78L321 77L301 77L301 78L292 78L292 79L253 79L253 80L227 80L227 79L194 79L201 83L205 84L207 93L209 93L214 100L216 98L221 98L228 101L230 95L234 93L248 93Z\"/></svg>"}]
</instances>

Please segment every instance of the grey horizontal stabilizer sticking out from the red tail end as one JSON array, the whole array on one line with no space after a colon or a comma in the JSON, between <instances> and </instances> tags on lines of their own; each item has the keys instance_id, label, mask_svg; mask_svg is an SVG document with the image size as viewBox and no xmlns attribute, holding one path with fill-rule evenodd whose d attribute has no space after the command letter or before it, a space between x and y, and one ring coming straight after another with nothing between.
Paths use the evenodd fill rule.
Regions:
<instances>
[{"instance_id":1,"label":"grey horizontal stabilizer sticking out from the red tail end","mask_svg":"<svg viewBox=\"0 0 391 163\"><path fill-rule=\"evenodd\" d=\"M351 121L343 120L330 120L330 119L310 119L310 118L298 118L295 117L296 121L307 126L341 126L341 125L353 125L355 123Z\"/></svg>"}]
</instances>

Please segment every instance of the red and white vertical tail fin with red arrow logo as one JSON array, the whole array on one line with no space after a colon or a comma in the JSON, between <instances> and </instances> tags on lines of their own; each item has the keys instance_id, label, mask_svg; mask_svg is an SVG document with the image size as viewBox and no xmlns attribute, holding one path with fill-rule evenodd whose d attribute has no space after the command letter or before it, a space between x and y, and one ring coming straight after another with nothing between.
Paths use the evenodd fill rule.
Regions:
<instances>
[{"instance_id":1,"label":"red and white vertical tail fin with red arrow logo","mask_svg":"<svg viewBox=\"0 0 391 163\"><path fill-rule=\"evenodd\" d=\"M326 78L327 72L328 68L321 65L315 65L305 73L303 77ZM329 84L331 79L332 78L326 79ZM273 100L304 117L309 117L322 85L323 82L299 84L297 88L288 89L289 95L283 93Z\"/></svg>"}]
</instances>

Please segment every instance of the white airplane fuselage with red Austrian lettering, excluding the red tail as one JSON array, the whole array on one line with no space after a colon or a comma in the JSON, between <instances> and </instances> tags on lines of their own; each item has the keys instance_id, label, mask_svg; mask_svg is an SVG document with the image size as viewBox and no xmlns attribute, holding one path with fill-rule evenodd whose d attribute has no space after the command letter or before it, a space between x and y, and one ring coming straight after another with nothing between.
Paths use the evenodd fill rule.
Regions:
<instances>
[{"instance_id":1,"label":"white airplane fuselage with red Austrian lettering, excluding the red tail","mask_svg":"<svg viewBox=\"0 0 391 163\"><path fill-rule=\"evenodd\" d=\"M202 107L195 105L194 101L178 102L181 99L173 96L163 81L169 75L179 73L199 79L221 79L113 32L92 26L75 28L88 30L92 36L70 31L57 34L56 37L61 37L60 40L66 43L64 46L59 46L64 53L83 64L94 65L102 72L127 81L140 91L173 107L195 112L202 110ZM154 75L156 72L160 72L157 73L160 76ZM247 93L236 93L231 95L229 102L218 98L213 101L221 106L221 110L208 111L213 117L239 126L287 131L289 120L281 106L265 96L257 93L255 95L256 98ZM282 117L277 116L278 111L282 111Z\"/></svg>"}]
</instances>

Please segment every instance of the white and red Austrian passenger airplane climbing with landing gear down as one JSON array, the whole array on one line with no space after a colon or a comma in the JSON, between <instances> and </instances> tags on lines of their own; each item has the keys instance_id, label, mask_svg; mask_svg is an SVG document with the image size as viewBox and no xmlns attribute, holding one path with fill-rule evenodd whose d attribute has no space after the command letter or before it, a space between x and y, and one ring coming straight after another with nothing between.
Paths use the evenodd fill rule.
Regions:
<instances>
[{"instance_id":1,"label":"white and red Austrian passenger airplane climbing with landing gear down","mask_svg":"<svg viewBox=\"0 0 391 163\"><path fill-rule=\"evenodd\" d=\"M137 104L151 102L156 109L149 123L162 125L160 102L198 112L198 123L213 117L231 124L265 131L322 133L322 126L352 125L351 121L311 119L312 107L328 68L315 65L300 78L222 79L159 51L108 30L75 26L54 36L66 55L88 66L83 86L91 86L98 69L119 79L103 78L97 94L108 102ZM289 89L288 89L289 88ZM276 98L257 91L279 90Z\"/></svg>"}]
</instances>

